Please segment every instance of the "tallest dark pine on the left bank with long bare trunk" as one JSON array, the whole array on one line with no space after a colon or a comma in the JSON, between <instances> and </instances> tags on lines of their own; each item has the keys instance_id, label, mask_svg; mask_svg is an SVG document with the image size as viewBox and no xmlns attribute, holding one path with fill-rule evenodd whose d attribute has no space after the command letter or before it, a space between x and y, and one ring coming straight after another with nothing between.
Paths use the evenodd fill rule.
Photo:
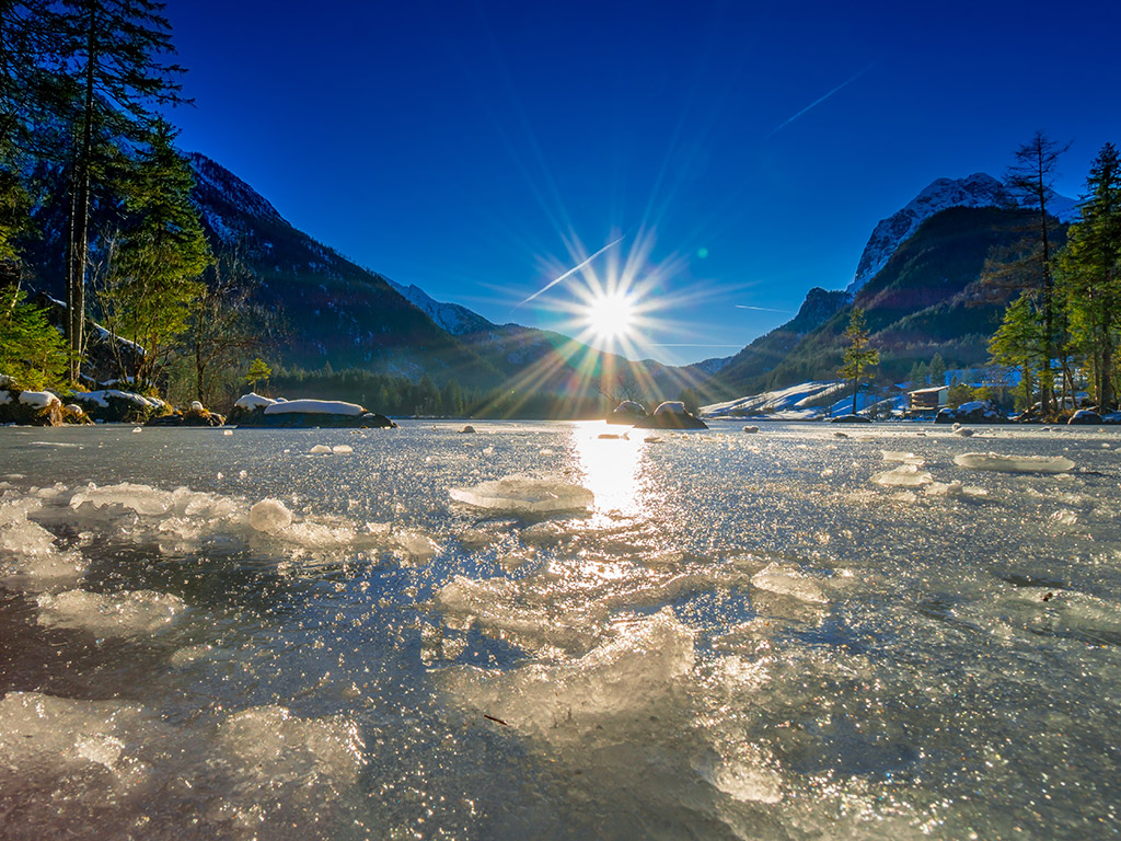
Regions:
<instances>
[{"instance_id":1,"label":"tallest dark pine on the left bank with long bare trunk","mask_svg":"<svg viewBox=\"0 0 1121 841\"><path fill-rule=\"evenodd\" d=\"M66 248L66 338L76 360L84 348L86 264L99 149L111 137L136 138L155 119L155 108L186 102L165 64L173 54L170 25L155 0L61 0L68 24L67 75L78 91L73 118L71 212Z\"/></svg>"}]
</instances>

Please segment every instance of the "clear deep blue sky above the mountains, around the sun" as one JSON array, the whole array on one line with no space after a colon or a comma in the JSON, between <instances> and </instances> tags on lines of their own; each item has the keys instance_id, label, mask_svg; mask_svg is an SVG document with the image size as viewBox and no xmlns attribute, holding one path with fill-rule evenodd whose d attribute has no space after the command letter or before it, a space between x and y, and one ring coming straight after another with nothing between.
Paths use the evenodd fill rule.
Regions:
<instances>
[{"instance_id":1,"label":"clear deep blue sky above the mountains, around the sun","mask_svg":"<svg viewBox=\"0 0 1121 841\"><path fill-rule=\"evenodd\" d=\"M634 259L636 357L729 355L938 177L1036 129L1077 195L1121 144L1121 2L169 0L180 146L297 228L488 318L573 333ZM575 244L578 243L578 244ZM583 251L580 249L583 248ZM748 309L742 307L759 307ZM781 312L770 312L781 311Z\"/></svg>"}]
</instances>

